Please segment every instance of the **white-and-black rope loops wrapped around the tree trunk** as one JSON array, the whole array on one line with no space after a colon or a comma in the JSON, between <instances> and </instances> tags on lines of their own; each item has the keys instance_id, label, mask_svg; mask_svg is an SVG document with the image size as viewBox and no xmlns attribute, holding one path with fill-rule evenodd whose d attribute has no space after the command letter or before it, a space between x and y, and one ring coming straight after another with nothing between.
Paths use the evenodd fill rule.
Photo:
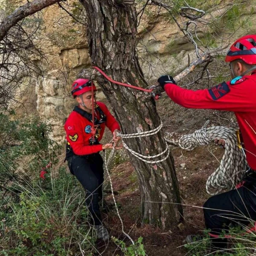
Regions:
<instances>
[{"instance_id":1,"label":"white-and-black rope loops wrapped around the tree trunk","mask_svg":"<svg viewBox=\"0 0 256 256\"><path fill-rule=\"evenodd\" d=\"M150 130L150 131L143 131L143 132L138 132L138 133L133 133L133 134L118 133L117 136L121 137L122 139L123 138L128 139L128 138L139 138L139 137L151 136L151 135L157 134L161 130L162 127L163 127L163 123L161 122L157 128L154 128L153 130ZM166 143L166 141L165 141L165 143ZM144 156L143 154L140 154L140 153L132 150L131 148L128 147L128 145L123 140L122 140L122 144L123 144L124 148L126 148L132 155L139 158L140 160L142 160L145 163L152 164L152 163L163 162L164 160L166 160L169 157L169 154L170 154L169 146L167 145L167 143L166 143L166 149L163 152L153 155L153 156ZM166 156L160 160L155 160L155 161L147 160L147 159L152 159L155 157L160 157L163 154L165 154L166 152L167 152Z\"/></svg>"}]
</instances>

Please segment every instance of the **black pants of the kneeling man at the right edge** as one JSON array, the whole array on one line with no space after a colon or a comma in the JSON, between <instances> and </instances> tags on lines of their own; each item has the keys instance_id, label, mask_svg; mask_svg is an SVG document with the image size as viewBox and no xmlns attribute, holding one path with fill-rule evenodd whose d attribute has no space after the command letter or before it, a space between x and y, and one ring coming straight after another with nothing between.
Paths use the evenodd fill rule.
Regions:
<instances>
[{"instance_id":1,"label":"black pants of the kneeling man at the right edge","mask_svg":"<svg viewBox=\"0 0 256 256\"><path fill-rule=\"evenodd\" d=\"M239 189L212 196L204 204L205 225L212 234L227 231L230 224L247 225L256 221L256 173L244 181ZM227 239L212 239L212 246L226 248Z\"/></svg>"}]
</instances>

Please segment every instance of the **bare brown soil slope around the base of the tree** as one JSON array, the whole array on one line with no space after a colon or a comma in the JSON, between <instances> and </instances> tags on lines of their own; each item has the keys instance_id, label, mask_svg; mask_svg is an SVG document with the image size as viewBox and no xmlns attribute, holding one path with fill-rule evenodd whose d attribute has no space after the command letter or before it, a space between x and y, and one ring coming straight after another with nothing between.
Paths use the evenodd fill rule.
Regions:
<instances>
[{"instance_id":1,"label":"bare brown soil slope around the base of the tree","mask_svg":"<svg viewBox=\"0 0 256 256\"><path fill-rule=\"evenodd\" d=\"M166 137L169 139L177 139L183 134L192 133L201 128L208 119L210 125L236 125L232 113L186 109L174 104L166 96L163 96L157 102L157 111L163 121ZM125 157L115 159L116 163L119 164L111 170L113 188L118 192L115 198L119 205L124 230L129 233L134 241L142 236L146 255L150 256L190 255L183 246L183 239L188 234L195 234L204 230L204 217L201 207L209 198L205 184L209 175L218 167L218 160L221 160L224 150L212 142L207 146L195 148L193 151L185 151L173 146L171 152L175 160L175 169L183 203L185 218L183 230L179 230L175 225L171 230L160 230L148 224L142 225L140 191L131 163ZM125 152L120 155L125 155ZM106 201L113 203L110 194L106 196ZM129 245L130 241L122 235L122 227L115 210L104 214L104 217L110 235L125 241L126 245ZM97 250L99 254L104 256L123 255L119 246L113 241L110 241L108 245L98 242Z\"/></svg>"}]
</instances>

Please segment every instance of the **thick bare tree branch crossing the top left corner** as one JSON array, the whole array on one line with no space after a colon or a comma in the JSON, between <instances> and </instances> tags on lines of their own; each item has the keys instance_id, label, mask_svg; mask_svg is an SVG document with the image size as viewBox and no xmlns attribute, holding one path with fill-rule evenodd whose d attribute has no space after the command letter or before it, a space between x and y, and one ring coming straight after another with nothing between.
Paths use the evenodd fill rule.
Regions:
<instances>
[{"instance_id":1,"label":"thick bare tree branch crossing the top left corner","mask_svg":"<svg viewBox=\"0 0 256 256\"><path fill-rule=\"evenodd\" d=\"M17 22L59 1L60 0L34 0L30 3L26 3L25 5L17 8L0 24L0 41L3 40L9 29L15 24L17 24Z\"/></svg>"}]
</instances>

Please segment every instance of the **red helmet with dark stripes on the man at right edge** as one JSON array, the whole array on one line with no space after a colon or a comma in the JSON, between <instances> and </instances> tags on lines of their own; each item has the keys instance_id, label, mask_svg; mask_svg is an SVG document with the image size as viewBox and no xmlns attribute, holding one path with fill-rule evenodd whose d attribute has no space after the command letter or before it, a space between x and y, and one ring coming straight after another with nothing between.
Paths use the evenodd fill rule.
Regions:
<instances>
[{"instance_id":1,"label":"red helmet with dark stripes on the man at right edge","mask_svg":"<svg viewBox=\"0 0 256 256\"><path fill-rule=\"evenodd\" d=\"M256 64L256 35L245 35L230 47L226 62L241 59L249 65Z\"/></svg>"}]
</instances>

